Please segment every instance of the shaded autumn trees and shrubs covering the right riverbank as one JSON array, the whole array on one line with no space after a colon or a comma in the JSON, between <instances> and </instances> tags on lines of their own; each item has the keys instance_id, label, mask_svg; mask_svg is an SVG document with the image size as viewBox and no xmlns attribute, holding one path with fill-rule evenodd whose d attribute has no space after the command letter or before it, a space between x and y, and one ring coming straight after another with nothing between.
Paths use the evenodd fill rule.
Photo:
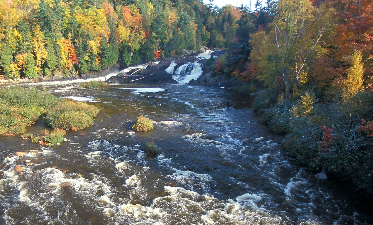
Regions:
<instances>
[{"instance_id":1,"label":"shaded autumn trees and shrubs covering the right riverbank","mask_svg":"<svg viewBox=\"0 0 373 225\"><path fill-rule=\"evenodd\" d=\"M286 134L298 162L372 196L373 2L279 0L270 9L249 13L214 73L247 82L253 110Z\"/></svg>"}]
</instances>

